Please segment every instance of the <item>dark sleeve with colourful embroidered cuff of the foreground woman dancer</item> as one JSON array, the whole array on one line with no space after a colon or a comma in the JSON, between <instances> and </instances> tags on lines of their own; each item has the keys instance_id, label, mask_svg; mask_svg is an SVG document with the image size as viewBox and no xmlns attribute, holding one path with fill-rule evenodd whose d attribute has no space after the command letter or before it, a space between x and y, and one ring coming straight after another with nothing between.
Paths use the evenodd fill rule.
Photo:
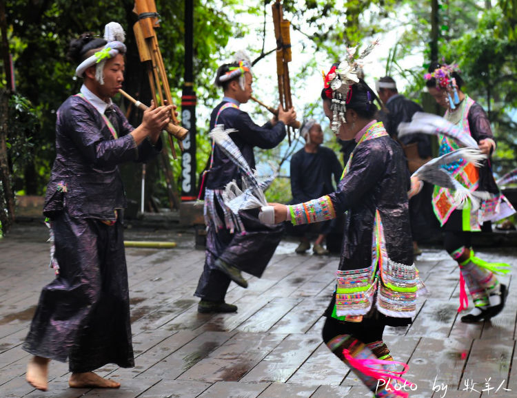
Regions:
<instances>
[{"instance_id":1,"label":"dark sleeve with colourful embroidered cuff of the foreground woman dancer","mask_svg":"<svg viewBox=\"0 0 517 398\"><path fill-rule=\"evenodd\" d=\"M335 218L360 204L363 197L374 190L385 172L382 147L372 143L361 145L354 152L350 168L329 195L289 207L293 224L308 224Z\"/></svg>"}]
</instances>

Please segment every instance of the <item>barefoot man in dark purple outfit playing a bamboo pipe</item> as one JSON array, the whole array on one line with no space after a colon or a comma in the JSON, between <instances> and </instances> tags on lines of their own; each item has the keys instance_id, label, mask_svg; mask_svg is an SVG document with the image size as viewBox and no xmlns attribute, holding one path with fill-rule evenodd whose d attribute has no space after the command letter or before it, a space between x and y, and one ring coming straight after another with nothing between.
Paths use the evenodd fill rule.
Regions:
<instances>
[{"instance_id":1,"label":"barefoot man in dark purple outfit playing a bamboo pipe","mask_svg":"<svg viewBox=\"0 0 517 398\"><path fill-rule=\"evenodd\" d=\"M92 371L108 363L134 366L118 165L159 153L172 106L152 105L133 129L112 103L124 80L123 38L121 26L109 23L105 39L85 33L70 43L68 55L84 80L81 93L57 112L57 154L43 209L56 278L41 291L23 344L34 355L26 379L39 390L48 388L51 359L68 358L74 388L118 388Z\"/></svg>"}]
</instances>

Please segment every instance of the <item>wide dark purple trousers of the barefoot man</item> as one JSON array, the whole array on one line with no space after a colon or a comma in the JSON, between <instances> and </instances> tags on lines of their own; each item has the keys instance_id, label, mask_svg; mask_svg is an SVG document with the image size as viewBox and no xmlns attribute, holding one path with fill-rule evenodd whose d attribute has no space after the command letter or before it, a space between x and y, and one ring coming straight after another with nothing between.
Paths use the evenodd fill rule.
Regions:
<instances>
[{"instance_id":1,"label":"wide dark purple trousers of the barefoot man","mask_svg":"<svg viewBox=\"0 0 517 398\"><path fill-rule=\"evenodd\" d=\"M63 211L52 231L59 275L41 291L23 349L68 358L74 373L134 366L121 222L108 226Z\"/></svg>"}]
</instances>

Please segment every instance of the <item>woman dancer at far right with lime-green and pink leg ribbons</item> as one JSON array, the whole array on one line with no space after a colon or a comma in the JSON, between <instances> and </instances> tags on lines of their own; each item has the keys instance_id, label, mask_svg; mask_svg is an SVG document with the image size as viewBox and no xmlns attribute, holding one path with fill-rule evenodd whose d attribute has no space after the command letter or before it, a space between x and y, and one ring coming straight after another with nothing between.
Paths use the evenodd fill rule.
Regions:
<instances>
[{"instance_id":1,"label":"woman dancer at far right with lime-green and pink leg ribbons","mask_svg":"<svg viewBox=\"0 0 517 398\"><path fill-rule=\"evenodd\" d=\"M434 63L424 78L429 93L438 105L447 109L444 118L472 136L483 154L494 154L496 142L487 114L481 105L461 90L463 79L457 72L457 65ZM439 136L438 143L440 156L459 148L458 143L447 136ZM468 306L465 282L474 301L474 308L461 317L461 321L472 323L489 320L503 310L507 296L505 284L497 280L494 272L507 273L509 266L489 263L476 257L472 250L472 232L481 231L484 222L500 220L515 213L515 210L496 185L490 158L480 168L472 163L456 162L447 165L446 169L465 188L490 194L488 200L481 202L480 211L476 212L471 211L472 205L469 202L463 209L459 209L449 190L443 187L434 188L432 199L434 213L445 230L445 250L460 266L458 311Z\"/></svg>"}]
</instances>

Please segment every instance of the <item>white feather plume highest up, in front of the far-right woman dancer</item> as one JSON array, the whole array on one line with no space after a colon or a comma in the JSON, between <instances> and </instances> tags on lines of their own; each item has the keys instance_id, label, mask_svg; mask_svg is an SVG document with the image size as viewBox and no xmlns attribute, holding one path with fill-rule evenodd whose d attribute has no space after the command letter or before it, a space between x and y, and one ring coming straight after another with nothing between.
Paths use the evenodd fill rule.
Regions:
<instances>
[{"instance_id":1,"label":"white feather plume highest up, in front of the far-right woman dancer","mask_svg":"<svg viewBox=\"0 0 517 398\"><path fill-rule=\"evenodd\" d=\"M443 117L425 112L416 112L410 123L398 125L398 138L407 134L424 133L431 135L443 134L453 138L465 147L479 149L476 140L465 134L460 127L446 121Z\"/></svg>"}]
</instances>

